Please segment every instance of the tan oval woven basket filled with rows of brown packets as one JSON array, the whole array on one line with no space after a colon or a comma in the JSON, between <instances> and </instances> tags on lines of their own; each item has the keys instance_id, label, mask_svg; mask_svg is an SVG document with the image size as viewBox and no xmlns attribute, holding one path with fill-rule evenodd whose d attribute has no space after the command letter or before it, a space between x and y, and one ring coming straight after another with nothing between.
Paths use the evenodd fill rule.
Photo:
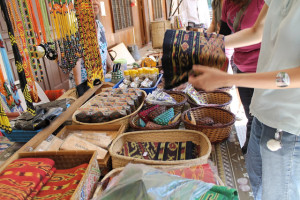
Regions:
<instances>
[{"instance_id":1,"label":"tan oval woven basket filled with rows of brown packets","mask_svg":"<svg viewBox=\"0 0 300 200\"><path fill-rule=\"evenodd\" d=\"M122 117L122 118L119 118L119 119L115 119L115 120L112 120L112 121L109 121L109 122L102 122L102 123L85 123L85 122L80 122L76 119L76 114L78 114L78 112L80 111L75 111L72 115L72 121L76 124L82 124L82 125L105 125L105 124L125 124L126 126L128 126L128 123L129 123L129 119L131 116L137 114L143 107L144 105L144 102L145 102L145 99L146 99L146 96L147 96L147 93L143 90L142 91L142 94L143 94L143 97L142 97L142 103L140 104L140 106L133 112L131 113L130 115L127 115L125 117ZM93 99L93 98L92 98ZM91 99L91 100L92 100ZM81 107L84 107L86 104L88 103L88 101L83 104Z\"/></svg>"}]
</instances>

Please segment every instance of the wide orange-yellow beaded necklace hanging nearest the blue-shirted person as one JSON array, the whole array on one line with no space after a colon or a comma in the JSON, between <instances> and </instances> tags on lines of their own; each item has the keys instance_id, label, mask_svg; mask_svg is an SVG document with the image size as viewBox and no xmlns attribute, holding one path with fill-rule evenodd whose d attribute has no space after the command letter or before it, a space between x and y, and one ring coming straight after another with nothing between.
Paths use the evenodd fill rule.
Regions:
<instances>
[{"instance_id":1,"label":"wide orange-yellow beaded necklace hanging nearest the blue-shirted person","mask_svg":"<svg viewBox=\"0 0 300 200\"><path fill-rule=\"evenodd\" d=\"M87 71L88 86L93 87L95 80L104 81L101 55L98 46L94 9L91 0L75 1L84 65Z\"/></svg>"}]
</instances>

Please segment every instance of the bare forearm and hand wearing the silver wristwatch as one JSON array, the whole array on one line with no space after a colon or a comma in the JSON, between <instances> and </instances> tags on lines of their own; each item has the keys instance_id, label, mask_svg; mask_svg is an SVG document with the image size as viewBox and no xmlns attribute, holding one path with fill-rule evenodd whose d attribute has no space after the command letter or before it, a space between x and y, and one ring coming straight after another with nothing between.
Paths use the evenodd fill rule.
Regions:
<instances>
[{"instance_id":1,"label":"bare forearm and hand wearing the silver wristwatch","mask_svg":"<svg viewBox=\"0 0 300 200\"><path fill-rule=\"evenodd\" d=\"M212 91L220 87L260 88L260 89L285 89L300 88L300 66L285 70L263 73L227 74L211 67L194 65L193 70L197 76L190 76L189 82L196 88ZM286 72L290 77L290 85L287 87L276 86L276 75Z\"/></svg>"}]
</instances>

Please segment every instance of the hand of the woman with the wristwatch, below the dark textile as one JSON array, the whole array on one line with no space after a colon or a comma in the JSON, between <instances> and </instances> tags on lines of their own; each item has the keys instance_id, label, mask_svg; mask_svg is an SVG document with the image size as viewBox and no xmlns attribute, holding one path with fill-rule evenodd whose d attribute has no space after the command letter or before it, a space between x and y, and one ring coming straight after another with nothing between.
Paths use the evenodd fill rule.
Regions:
<instances>
[{"instance_id":1,"label":"hand of the woman with the wristwatch, below the dark textile","mask_svg":"<svg viewBox=\"0 0 300 200\"><path fill-rule=\"evenodd\" d=\"M194 65L194 73L189 76L189 82L198 89L213 91L221 87L231 86L227 83L229 74L221 70L203 65Z\"/></svg>"}]
</instances>

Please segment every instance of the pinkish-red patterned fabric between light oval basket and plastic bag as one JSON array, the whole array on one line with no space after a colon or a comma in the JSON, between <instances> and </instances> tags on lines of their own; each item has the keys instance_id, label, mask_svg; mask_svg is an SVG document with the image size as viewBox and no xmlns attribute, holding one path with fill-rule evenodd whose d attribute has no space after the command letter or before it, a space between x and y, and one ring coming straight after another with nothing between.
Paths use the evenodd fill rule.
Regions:
<instances>
[{"instance_id":1,"label":"pinkish-red patterned fabric between light oval basket and plastic bag","mask_svg":"<svg viewBox=\"0 0 300 200\"><path fill-rule=\"evenodd\" d=\"M209 164L197 165L183 169L168 171L169 174L181 176L183 178L204 181L206 183L216 184L214 173Z\"/></svg>"}]
</instances>

